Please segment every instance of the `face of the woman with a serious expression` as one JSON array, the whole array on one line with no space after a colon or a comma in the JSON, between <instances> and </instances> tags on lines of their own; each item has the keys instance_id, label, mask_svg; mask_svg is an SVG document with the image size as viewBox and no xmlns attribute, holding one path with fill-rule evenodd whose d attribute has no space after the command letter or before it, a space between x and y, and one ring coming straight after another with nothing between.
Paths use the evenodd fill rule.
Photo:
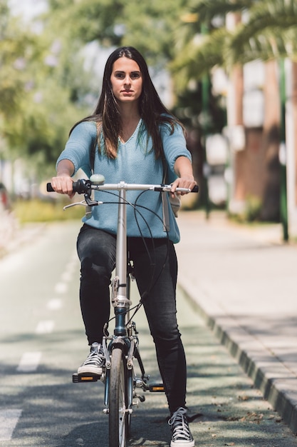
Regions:
<instances>
[{"instance_id":1,"label":"face of the woman with a serious expression","mask_svg":"<svg viewBox=\"0 0 297 447\"><path fill-rule=\"evenodd\" d=\"M142 92L142 74L138 64L132 59L117 59L113 64L110 81L118 102L131 103L139 99Z\"/></svg>"}]
</instances>

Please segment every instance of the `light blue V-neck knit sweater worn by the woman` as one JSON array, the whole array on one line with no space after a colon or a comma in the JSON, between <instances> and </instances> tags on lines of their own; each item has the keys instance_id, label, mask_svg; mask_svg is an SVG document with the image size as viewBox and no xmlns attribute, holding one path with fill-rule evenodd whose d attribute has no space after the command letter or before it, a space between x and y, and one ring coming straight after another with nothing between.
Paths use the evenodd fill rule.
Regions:
<instances>
[{"instance_id":1,"label":"light blue V-neck knit sweater worn by the woman","mask_svg":"<svg viewBox=\"0 0 297 447\"><path fill-rule=\"evenodd\" d=\"M174 181L177 176L174 174L174 163L179 156L186 156L191 159L191 155L186 148L184 134L180 126L175 126L174 133L170 135L170 128L164 124L160 128L162 144L165 152L165 159L168 165L168 183ZM83 169L87 176L90 176L90 148L96 141L96 125L93 121L83 121L73 129L66 147L59 156L57 164L63 159L72 161L75 172ZM95 151L95 174L103 174L105 183L118 183L125 181L134 184L161 184L163 179L162 159L155 159L152 149L152 141L147 144L147 131L142 124L142 120L137 125L134 134L128 141L122 143L119 140L118 157L109 159L105 155L103 138L100 142L101 151L98 146ZM73 175L74 175L73 174ZM127 236L144 236L154 238L164 238L166 233L162 221L162 201L160 193L145 191L140 195L140 191L127 191L126 199L131 204L137 201L137 212L132 206L127 206ZM83 218L83 221L90 226L100 228L109 233L117 232L118 219L118 191L95 191L95 199L108 202L99 206L94 206L92 216ZM145 208L142 208L145 207ZM179 229L175 221L174 214L170 209L170 240L174 243L179 241ZM153 214L152 210L159 219Z\"/></svg>"}]
</instances>

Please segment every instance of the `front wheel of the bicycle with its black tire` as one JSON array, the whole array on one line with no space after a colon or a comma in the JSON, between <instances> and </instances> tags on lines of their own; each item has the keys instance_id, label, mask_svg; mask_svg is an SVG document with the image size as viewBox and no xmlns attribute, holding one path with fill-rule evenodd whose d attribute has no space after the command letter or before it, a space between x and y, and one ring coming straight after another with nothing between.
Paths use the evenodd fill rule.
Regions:
<instances>
[{"instance_id":1,"label":"front wheel of the bicycle with its black tire","mask_svg":"<svg viewBox=\"0 0 297 447\"><path fill-rule=\"evenodd\" d=\"M125 447L127 438L127 368L125 354L114 348L110 365L109 447Z\"/></svg>"}]
</instances>

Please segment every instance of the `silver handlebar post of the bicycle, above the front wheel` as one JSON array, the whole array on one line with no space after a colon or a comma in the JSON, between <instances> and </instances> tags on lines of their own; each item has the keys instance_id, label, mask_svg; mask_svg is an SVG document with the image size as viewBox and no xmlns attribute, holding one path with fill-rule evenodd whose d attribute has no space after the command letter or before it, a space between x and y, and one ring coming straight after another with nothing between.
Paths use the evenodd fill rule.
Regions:
<instances>
[{"instance_id":1,"label":"silver handlebar post of the bicycle, above the front wheel","mask_svg":"<svg viewBox=\"0 0 297 447\"><path fill-rule=\"evenodd\" d=\"M130 306L127 298L127 219L126 219L126 190L125 183L120 182L118 205L118 233L115 262L115 279L113 286L112 304L115 308L115 336L127 335L125 317Z\"/></svg>"}]
</instances>

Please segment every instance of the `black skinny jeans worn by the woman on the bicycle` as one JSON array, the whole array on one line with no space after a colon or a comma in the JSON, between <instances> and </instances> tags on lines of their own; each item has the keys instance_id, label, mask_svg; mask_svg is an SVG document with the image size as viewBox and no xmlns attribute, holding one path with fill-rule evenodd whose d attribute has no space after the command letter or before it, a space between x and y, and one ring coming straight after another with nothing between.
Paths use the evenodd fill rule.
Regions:
<instances>
[{"instance_id":1,"label":"black skinny jeans worn by the woman on the bicycle","mask_svg":"<svg viewBox=\"0 0 297 447\"><path fill-rule=\"evenodd\" d=\"M157 361L165 384L170 412L185 406L187 368L176 318L177 257L166 238L128 238L127 248L155 342ZM110 314L110 277L115 268L116 236L84 225L78 235L81 263L80 307L88 343L102 342ZM152 279L153 275L153 279ZM153 286L149 293L145 293ZM144 295L143 295L144 294Z\"/></svg>"}]
</instances>

